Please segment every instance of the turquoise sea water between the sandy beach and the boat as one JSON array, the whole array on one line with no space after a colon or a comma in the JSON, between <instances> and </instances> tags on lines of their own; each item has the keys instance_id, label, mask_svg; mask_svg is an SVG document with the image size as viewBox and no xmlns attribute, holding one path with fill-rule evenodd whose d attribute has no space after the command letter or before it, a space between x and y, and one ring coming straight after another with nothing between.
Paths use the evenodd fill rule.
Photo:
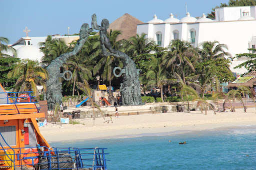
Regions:
<instances>
[{"instance_id":1,"label":"turquoise sea water between the sandy beach and the boat","mask_svg":"<svg viewBox=\"0 0 256 170\"><path fill-rule=\"evenodd\" d=\"M256 170L256 126L154 135L51 146L108 148L108 170Z\"/></svg>"}]
</instances>

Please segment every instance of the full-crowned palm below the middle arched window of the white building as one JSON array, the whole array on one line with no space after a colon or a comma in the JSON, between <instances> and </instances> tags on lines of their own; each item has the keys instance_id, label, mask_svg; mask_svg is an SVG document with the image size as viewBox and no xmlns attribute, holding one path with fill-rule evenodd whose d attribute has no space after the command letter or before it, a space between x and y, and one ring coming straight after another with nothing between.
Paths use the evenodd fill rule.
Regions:
<instances>
[{"instance_id":1,"label":"full-crowned palm below the middle arched window of the white building","mask_svg":"<svg viewBox=\"0 0 256 170\"><path fill-rule=\"evenodd\" d=\"M175 40L171 42L168 47L169 51L163 54L163 64L166 67L172 67L171 70L180 74L180 77L184 83L185 73L190 74L186 68L192 71L194 69L194 63L196 62L196 52L189 42L183 40Z\"/></svg>"}]
</instances>

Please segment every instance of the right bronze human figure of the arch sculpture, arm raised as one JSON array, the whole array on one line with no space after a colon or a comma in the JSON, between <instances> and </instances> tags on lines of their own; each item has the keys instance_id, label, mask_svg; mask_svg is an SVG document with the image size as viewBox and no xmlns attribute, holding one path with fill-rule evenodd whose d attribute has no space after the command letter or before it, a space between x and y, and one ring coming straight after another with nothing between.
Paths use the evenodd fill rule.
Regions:
<instances>
[{"instance_id":1,"label":"right bronze human figure of the arch sculpture, arm raised","mask_svg":"<svg viewBox=\"0 0 256 170\"><path fill-rule=\"evenodd\" d=\"M97 25L97 21L96 21L96 14L93 14L91 18L92 18L92 21L91 21L92 27L94 29L99 30L100 44L101 44L103 55L106 57L109 55L118 57L121 59L123 63L123 67L125 69L125 72L123 74L123 87L122 87L123 98L124 98L124 100L122 100L123 103L125 105L143 104L140 93L139 94L137 93L137 97L136 97L137 102L134 102L132 98L132 86L134 86L134 88L136 89L136 92L140 92L140 82L137 74L139 73L140 70L136 69L135 63L128 55L126 55L124 52L112 49L110 41L106 36L106 30L109 26L108 20L102 19L101 26L99 26Z\"/></svg>"}]
</instances>

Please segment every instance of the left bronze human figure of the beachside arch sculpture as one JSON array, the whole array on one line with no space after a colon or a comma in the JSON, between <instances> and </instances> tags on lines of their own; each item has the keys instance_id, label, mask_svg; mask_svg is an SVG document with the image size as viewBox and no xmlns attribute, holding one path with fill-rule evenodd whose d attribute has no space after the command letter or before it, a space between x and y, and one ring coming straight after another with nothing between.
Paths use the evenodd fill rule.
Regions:
<instances>
[{"instance_id":1,"label":"left bronze human figure of the beachside arch sculpture","mask_svg":"<svg viewBox=\"0 0 256 170\"><path fill-rule=\"evenodd\" d=\"M62 90L61 90L61 82L59 81L59 78L64 75L60 73L60 67L63 66L63 64L66 62L66 60L76 55L82 48L83 44L87 40L89 36L89 32L91 32L93 29L89 28L89 25L87 23L82 24L80 29L80 37L77 40L76 45L74 46L73 51L61 54L56 59L52 60L50 64L46 67L46 70L49 73L49 78L46 80L46 100L48 105L48 110L52 110L56 103L60 104L62 103Z\"/></svg>"}]
</instances>

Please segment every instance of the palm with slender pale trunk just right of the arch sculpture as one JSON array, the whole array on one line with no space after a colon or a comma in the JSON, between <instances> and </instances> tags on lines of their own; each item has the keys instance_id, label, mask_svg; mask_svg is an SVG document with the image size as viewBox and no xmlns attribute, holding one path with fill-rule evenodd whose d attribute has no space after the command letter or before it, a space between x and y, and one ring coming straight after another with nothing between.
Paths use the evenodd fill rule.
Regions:
<instances>
[{"instance_id":1,"label":"palm with slender pale trunk just right of the arch sculpture","mask_svg":"<svg viewBox=\"0 0 256 170\"><path fill-rule=\"evenodd\" d=\"M141 76L142 83L146 86L157 86L160 88L161 99L163 101L162 87L165 84L169 84L175 79L170 79L170 72L161 65L161 58L155 56L150 57L150 61L144 63L144 67L148 68L147 72Z\"/></svg>"}]
</instances>

